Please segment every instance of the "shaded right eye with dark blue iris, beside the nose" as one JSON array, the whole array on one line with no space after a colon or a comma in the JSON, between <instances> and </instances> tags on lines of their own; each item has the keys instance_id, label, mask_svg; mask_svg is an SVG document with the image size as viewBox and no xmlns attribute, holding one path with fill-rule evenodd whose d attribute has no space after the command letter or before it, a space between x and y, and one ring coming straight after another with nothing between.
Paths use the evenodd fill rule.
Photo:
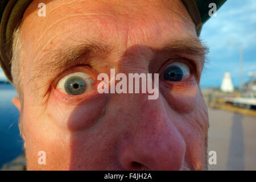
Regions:
<instances>
[{"instance_id":1,"label":"shaded right eye with dark blue iris, beside the nose","mask_svg":"<svg viewBox=\"0 0 256 182\"><path fill-rule=\"evenodd\" d=\"M171 63L163 71L163 78L166 81L181 81L190 76L190 69L184 63Z\"/></svg>"}]
</instances>

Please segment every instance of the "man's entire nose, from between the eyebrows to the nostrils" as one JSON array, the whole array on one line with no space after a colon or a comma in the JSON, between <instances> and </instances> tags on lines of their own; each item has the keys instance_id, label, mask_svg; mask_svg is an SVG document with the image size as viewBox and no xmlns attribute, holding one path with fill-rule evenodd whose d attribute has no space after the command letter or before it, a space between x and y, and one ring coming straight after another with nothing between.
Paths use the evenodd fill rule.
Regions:
<instances>
[{"instance_id":1,"label":"man's entire nose, from between the eyebrows to the nostrils","mask_svg":"<svg viewBox=\"0 0 256 182\"><path fill-rule=\"evenodd\" d=\"M115 74L124 73L127 79L129 73L147 74L153 57L150 48L132 46L118 60ZM131 85L127 80L127 90L129 86ZM123 168L131 170L178 170L183 164L186 146L172 123L177 115L169 118L163 96L159 94L156 100L149 100L148 90L142 93L141 86L142 84L139 93L115 93L110 97L112 103L109 105L115 106L109 107L113 109L109 113L112 113L113 121L118 122L117 125L121 126L122 123L122 132L129 138L119 143L119 162ZM142 168L138 168L137 164Z\"/></svg>"}]
</instances>

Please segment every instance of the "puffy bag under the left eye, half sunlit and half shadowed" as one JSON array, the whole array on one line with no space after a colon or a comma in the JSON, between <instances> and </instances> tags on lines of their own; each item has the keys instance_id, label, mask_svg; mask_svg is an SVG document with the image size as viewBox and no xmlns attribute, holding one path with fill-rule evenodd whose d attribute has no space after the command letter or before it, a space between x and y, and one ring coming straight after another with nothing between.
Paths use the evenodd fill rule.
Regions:
<instances>
[{"instance_id":1,"label":"puffy bag under the left eye, half sunlit and half shadowed","mask_svg":"<svg viewBox=\"0 0 256 182\"><path fill-rule=\"evenodd\" d=\"M64 130L88 129L104 115L106 100L106 94L97 94L93 98L80 101L79 105L67 105L52 98L47 108L47 117Z\"/></svg>"}]
</instances>

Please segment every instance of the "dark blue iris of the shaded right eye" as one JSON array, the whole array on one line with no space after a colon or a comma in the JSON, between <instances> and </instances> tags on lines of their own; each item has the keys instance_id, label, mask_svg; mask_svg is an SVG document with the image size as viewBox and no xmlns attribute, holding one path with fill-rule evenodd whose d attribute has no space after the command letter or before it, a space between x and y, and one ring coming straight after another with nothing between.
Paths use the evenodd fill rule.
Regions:
<instances>
[{"instance_id":1,"label":"dark blue iris of the shaded right eye","mask_svg":"<svg viewBox=\"0 0 256 182\"><path fill-rule=\"evenodd\" d=\"M183 78L183 71L179 67L173 65L164 70L164 80L168 81L180 81Z\"/></svg>"}]
</instances>

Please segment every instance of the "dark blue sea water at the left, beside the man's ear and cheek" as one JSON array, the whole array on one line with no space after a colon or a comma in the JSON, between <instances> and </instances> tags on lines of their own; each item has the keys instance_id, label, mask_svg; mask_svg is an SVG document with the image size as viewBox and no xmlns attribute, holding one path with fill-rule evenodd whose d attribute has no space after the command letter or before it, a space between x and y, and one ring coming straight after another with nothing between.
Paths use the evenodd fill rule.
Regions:
<instances>
[{"instance_id":1,"label":"dark blue sea water at the left, beside the man's ear and cheek","mask_svg":"<svg viewBox=\"0 0 256 182\"><path fill-rule=\"evenodd\" d=\"M0 168L24 152L18 129L19 111L11 103L16 96L13 85L0 82Z\"/></svg>"}]
</instances>

